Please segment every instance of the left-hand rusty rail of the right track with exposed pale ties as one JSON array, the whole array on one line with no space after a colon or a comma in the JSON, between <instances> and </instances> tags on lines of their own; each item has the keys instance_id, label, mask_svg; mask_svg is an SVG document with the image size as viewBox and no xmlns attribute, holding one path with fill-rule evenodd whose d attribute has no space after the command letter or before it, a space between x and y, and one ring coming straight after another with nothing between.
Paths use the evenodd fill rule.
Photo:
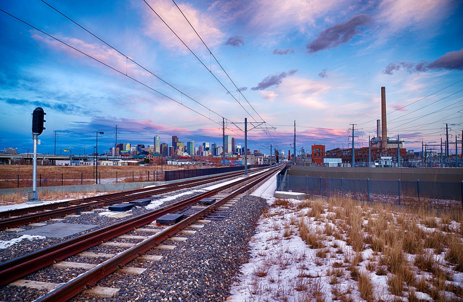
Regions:
<instances>
[{"instance_id":1,"label":"left-hand rusty rail of the right track with exposed pale ties","mask_svg":"<svg viewBox=\"0 0 463 302\"><path fill-rule=\"evenodd\" d=\"M264 173L268 172L258 173L254 177L258 177ZM37 271L45 266L51 265L56 261L68 258L90 247L94 247L121 234L125 234L135 228L139 228L140 226L153 222L156 218L168 214L169 212L182 210L189 205L197 203L201 198L212 196L219 190L224 190L225 188L238 185L241 182L247 180L249 179L241 179L239 181L233 182L232 184L223 185L213 191L208 191L200 195L178 201L163 208L132 217L105 228L100 228L93 232L89 232L87 234L63 241L56 245L46 247L38 251L28 253L24 256L3 262L0 264L0 285L5 285L8 282L19 279L20 277L23 277L33 271Z\"/></svg>"}]
</instances>

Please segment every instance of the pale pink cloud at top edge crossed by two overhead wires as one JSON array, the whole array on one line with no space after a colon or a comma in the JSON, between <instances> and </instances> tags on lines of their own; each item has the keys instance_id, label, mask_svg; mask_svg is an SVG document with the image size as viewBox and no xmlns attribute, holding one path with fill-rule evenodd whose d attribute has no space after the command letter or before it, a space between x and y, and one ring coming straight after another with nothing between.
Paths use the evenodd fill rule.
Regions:
<instances>
[{"instance_id":1,"label":"pale pink cloud at top edge crossed by two overhead wires","mask_svg":"<svg viewBox=\"0 0 463 302\"><path fill-rule=\"evenodd\" d=\"M200 38L193 31L187 20L172 1L169 0L149 0L150 6L159 14L161 18L172 28L173 31L192 49L205 49ZM225 34L218 28L218 20L210 13L201 12L191 4L178 3L181 11L185 14L198 32L207 46L211 47L222 42ZM140 7L144 18L145 34L161 42L163 47L174 48L183 53L189 50L175 37L172 31L156 16L156 14L145 3Z\"/></svg>"}]
</instances>

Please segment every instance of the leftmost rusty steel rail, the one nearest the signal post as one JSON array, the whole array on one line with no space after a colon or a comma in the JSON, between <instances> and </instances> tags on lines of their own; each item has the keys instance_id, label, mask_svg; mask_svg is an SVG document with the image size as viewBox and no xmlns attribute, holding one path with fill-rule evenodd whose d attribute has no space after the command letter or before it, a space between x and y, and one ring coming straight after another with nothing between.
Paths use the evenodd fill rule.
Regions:
<instances>
[{"instance_id":1,"label":"leftmost rusty steel rail, the one nearest the signal post","mask_svg":"<svg viewBox=\"0 0 463 302\"><path fill-rule=\"evenodd\" d=\"M257 168L256 170L253 170L253 171L259 171L259 170L265 169L265 168L266 167ZM243 173L244 172L242 172L242 171L233 172L233 173L229 173L229 174L226 174L226 175L221 175L220 178L225 177L225 176L230 177L232 175L240 175L240 174L243 174ZM183 184L188 184L188 183L194 184L196 182L200 182L200 181L203 181L203 180L206 180L206 179L214 179L214 178L217 178L217 177L216 176L210 176L210 177L205 177L205 178L202 178L202 179L194 179L194 180L190 179L190 180L185 180L185 181L181 181L181 182L177 182L177 183L163 184L163 185L156 186L156 189L157 188L162 188L162 187L173 187L175 185L183 185ZM99 196L94 196L94 197L78 198L78 199L63 201L63 202L60 202L60 203L41 204L41 205L37 205L37 206L33 206L33 207L27 207L25 209L15 209L15 210L3 211L3 212L0 212L0 217L23 215L23 214L31 213L33 211L50 210L50 209L55 209L55 208L59 208L59 207L63 207L63 206L69 206L69 205L72 205L72 204L75 204L75 203L86 203L86 202L90 202L90 201L94 201L94 200L100 200L100 199L107 198L107 197L115 197L115 196L120 196L120 195L127 195L127 194L131 194L131 193L147 191L147 190L150 190L150 188L141 188L141 189L135 189L135 190L129 190L129 191L123 191L123 192L109 193L109 194L104 194L104 195L99 195Z\"/></svg>"}]
</instances>

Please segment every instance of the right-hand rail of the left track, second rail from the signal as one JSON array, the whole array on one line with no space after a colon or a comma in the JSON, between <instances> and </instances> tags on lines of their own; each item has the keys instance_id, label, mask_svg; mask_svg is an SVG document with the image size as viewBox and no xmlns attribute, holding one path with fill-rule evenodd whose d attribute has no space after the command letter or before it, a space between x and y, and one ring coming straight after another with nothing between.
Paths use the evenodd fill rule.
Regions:
<instances>
[{"instance_id":1,"label":"right-hand rail of the left track, second rail from the signal","mask_svg":"<svg viewBox=\"0 0 463 302\"><path fill-rule=\"evenodd\" d=\"M211 179L222 180L222 179L227 179L227 178L240 175L240 174L241 172L237 174L224 175L221 177L201 179L200 181L193 182L193 183L191 183L190 181L190 182L182 182L182 184L169 186L169 187L161 187L161 188L156 187L155 189L150 188L150 189L146 189L145 191L142 191L139 193L132 193L132 194L127 193L124 196L118 196L118 197L113 197L109 199L104 199L101 201L74 205L74 206L70 206L64 209L48 210L48 211L44 211L40 213L33 213L33 214L25 215L25 216L7 218L7 219L0 220L0 230L4 230L6 228L15 228L15 227L22 226L22 225L32 223L32 222L40 222L40 221L44 221L50 218L56 218L56 217L62 217L62 216L69 215L69 214L80 213L82 210L91 210L94 208L102 207L106 204L131 201L131 200L136 200L142 197L147 197L147 196L165 193L165 192L178 190L178 189L184 189L184 188L194 186L194 185L206 184L210 182ZM131 191L128 191L128 192L131 192Z\"/></svg>"}]
</instances>

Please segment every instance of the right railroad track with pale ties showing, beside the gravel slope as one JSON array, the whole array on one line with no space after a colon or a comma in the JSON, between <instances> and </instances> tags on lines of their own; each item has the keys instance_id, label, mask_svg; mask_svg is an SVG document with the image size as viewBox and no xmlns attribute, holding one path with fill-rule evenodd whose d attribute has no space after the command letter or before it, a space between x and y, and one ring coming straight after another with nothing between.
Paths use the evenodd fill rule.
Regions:
<instances>
[{"instance_id":1,"label":"right railroad track with pale ties showing, beside the gravel slope","mask_svg":"<svg viewBox=\"0 0 463 302\"><path fill-rule=\"evenodd\" d=\"M249 191L252 187L262 183L268 179L271 175L279 171L281 167L276 167L269 171L257 173L249 178L238 179L230 184L221 185L214 190L206 191L200 195L189 197L184 200L175 202L169 206L150 211L148 213L127 219L123 222L115 223L106 228L100 228L88 234L78 236L76 238L63 241L59 244L46 247L33 253L29 253L22 257L12 259L0 264L0 285L8 284L14 280L17 280L31 272L43 269L48 265L54 265L62 268L80 267L89 269L87 272L75 277L72 280L64 284L50 284L48 287L45 284L40 284L42 288L51 289L45 296L39 298L36 301L67 301L73 296L80 293L89 284L95 284L101 278L113 273L114 271L120 270L121 267L129 263L131 260L139 257L144 252L150 250L154 246L162 243L166 239L175 239L174 234L178 233L181 229L190 226L192 223L200 219L201 217L211 216L224 218L227 213L223 212L219 216L213 215L216 210L226 210L227 207L220 207L226 202L230 203L230 200L240 197L243 192ZM201 199L213 198L213 203L206 205L197 205ZM153 228L141 228L143 226L159 228L159 226L153 225L156 218L164 216L165 214L175 213L182 211L181 213L187 216L187 218L181 220L174 225L166 227L164 229L153 229ZM216 218L216 219L220 219ZM155 232L156 234L150 236L133 236L125 235L131 231L141 230L143 232ZM139 239L142 240L137 244L127 244L121 242L109 242L113 238L126 238L126 239ZM177 239L178 240L178 239ZM77 253L82 253L90 247L97 245L111 246L111 247L129 247L121 253L114 254L112 258L98 264L82 264L75 262L61 261L71 257ZM157 246L158 248L165 248L164 246ZM92 257L92 253L82 253L88 257ZM105 256L103 256L105 257ZM144 257L144 256L142 256ZM148 257L150 259L150 257ZM153 260L153 257L151 257ZM125 271L137 271L136 268L123 268ZM129 272L130 273L130 272ZM26 280L15 281L12 285L23 286L27 283ZM32 281L29 282L31 285ZM37 283L37 282L36 282Z\"/></svg>"}]
</instances>

